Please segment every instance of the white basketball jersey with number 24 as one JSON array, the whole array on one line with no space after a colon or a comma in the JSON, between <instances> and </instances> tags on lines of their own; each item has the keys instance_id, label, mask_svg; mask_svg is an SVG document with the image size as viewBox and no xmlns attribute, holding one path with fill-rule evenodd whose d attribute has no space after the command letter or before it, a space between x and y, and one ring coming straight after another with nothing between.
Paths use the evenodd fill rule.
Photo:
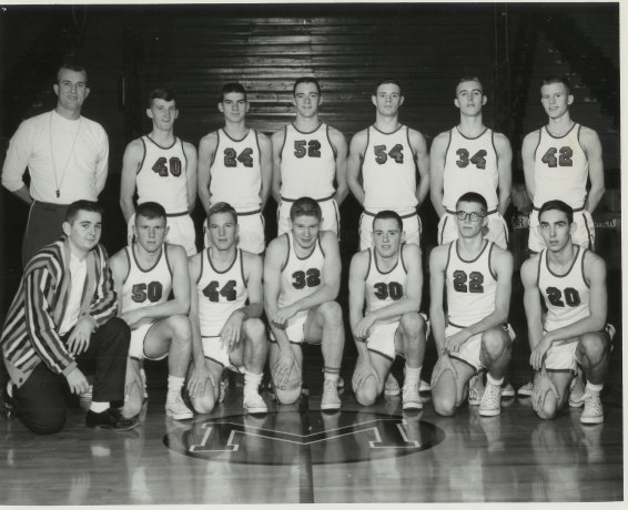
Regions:
<instances>
[{"instance_id":1,"label":"white basketball jersey with number 24","mask_svg":"<svg viewBox=\"0 0 628 510\"><path fill-rule=\"evenodd\" d=\"M262 201L262 164L255 130L242 140L233 140L223 129L210 167L212 204L226 202L239 213L257 211Z\"/></svg>"}]
</instances>

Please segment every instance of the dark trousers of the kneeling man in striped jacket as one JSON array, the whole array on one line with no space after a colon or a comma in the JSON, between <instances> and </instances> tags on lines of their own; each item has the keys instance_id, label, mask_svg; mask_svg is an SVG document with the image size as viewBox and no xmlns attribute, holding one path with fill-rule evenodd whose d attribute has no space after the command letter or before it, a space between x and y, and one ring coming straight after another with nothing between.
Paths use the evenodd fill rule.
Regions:
<instances>
[{"instance_id":1,"label":"dark trousers of the kneeling man in striped jacket","mask_svg":"<svg viewBox=\"0 0 628 510\"><path fill-rule=\"evenodd\" d=\"M130 339L126 323L114 317L92 335L88 350L77 356L83 375L93 370L93 401L124 400ZM40 363L21 387L13 387L16 415L36 434L58 432L65 422L68 391L65 377Z\"/></svg>"}]
</instances>

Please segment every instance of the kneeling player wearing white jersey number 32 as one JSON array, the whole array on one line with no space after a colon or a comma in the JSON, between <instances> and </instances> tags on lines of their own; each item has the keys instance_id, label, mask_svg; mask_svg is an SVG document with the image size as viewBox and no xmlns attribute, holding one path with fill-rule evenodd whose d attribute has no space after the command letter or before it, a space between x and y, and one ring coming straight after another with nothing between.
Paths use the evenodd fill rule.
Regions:
<instances>
[{"instance_id":1,"label":"kneeling player wearing white jersey number 32","mask_svg":"<svg viewBox=\"0 0 628 510\"><path fill-rule=\"evenodd\" d=\"M324 385L321 409L340 409L337 384L344 349L342 309L334 300L341 285L338 239L321 231L321 206L294 201L291 231L271 242L264 261L264 303L271 323L270 367L281 404L301 396L301 344L321 344Z\"/></svg>"}]
</instances>

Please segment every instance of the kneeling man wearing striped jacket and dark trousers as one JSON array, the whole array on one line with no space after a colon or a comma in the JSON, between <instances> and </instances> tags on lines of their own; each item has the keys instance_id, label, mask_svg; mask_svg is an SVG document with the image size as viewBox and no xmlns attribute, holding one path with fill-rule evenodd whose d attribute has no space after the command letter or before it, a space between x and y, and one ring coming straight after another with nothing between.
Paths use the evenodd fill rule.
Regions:
<instances>
[{"instance_id":1,"label":"kneeling man wearing striped jacket and dark trousers","mask_svg":"<svg viewBox=\"0 0 628 510\"><path fill-rule=\"evenodd\" d=\"M29 262L4 320L0 345L11 378L3 388L4 411L14 410L36 434L61 430L68 388L75 395L89 389L85 367L95 367L85 425L118 430L136 425L112 407L124 399L130 330L115 317L101 227L98 203L70 204L64 236Z\"/></svg>"}]
</instances>

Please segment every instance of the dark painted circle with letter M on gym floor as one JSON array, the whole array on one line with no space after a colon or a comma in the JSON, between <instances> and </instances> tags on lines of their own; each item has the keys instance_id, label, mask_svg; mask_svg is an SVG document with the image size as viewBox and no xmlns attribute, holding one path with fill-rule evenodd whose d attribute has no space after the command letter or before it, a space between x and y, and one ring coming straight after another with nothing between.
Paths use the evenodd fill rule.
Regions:
<instances>
[{"instance_id":1,"label":"dark painted circle with letter M on gym floor","mask_svg":"<svg viewBox=\"0 0 628 510\"><path fill-rule=\"evenodd\" d=\"M415 416L341 410L281 410L172 422L163 438L197 459L269 466L361 462L407 456L438 445L445 432Z\"/></svg>"}]
</instances>

